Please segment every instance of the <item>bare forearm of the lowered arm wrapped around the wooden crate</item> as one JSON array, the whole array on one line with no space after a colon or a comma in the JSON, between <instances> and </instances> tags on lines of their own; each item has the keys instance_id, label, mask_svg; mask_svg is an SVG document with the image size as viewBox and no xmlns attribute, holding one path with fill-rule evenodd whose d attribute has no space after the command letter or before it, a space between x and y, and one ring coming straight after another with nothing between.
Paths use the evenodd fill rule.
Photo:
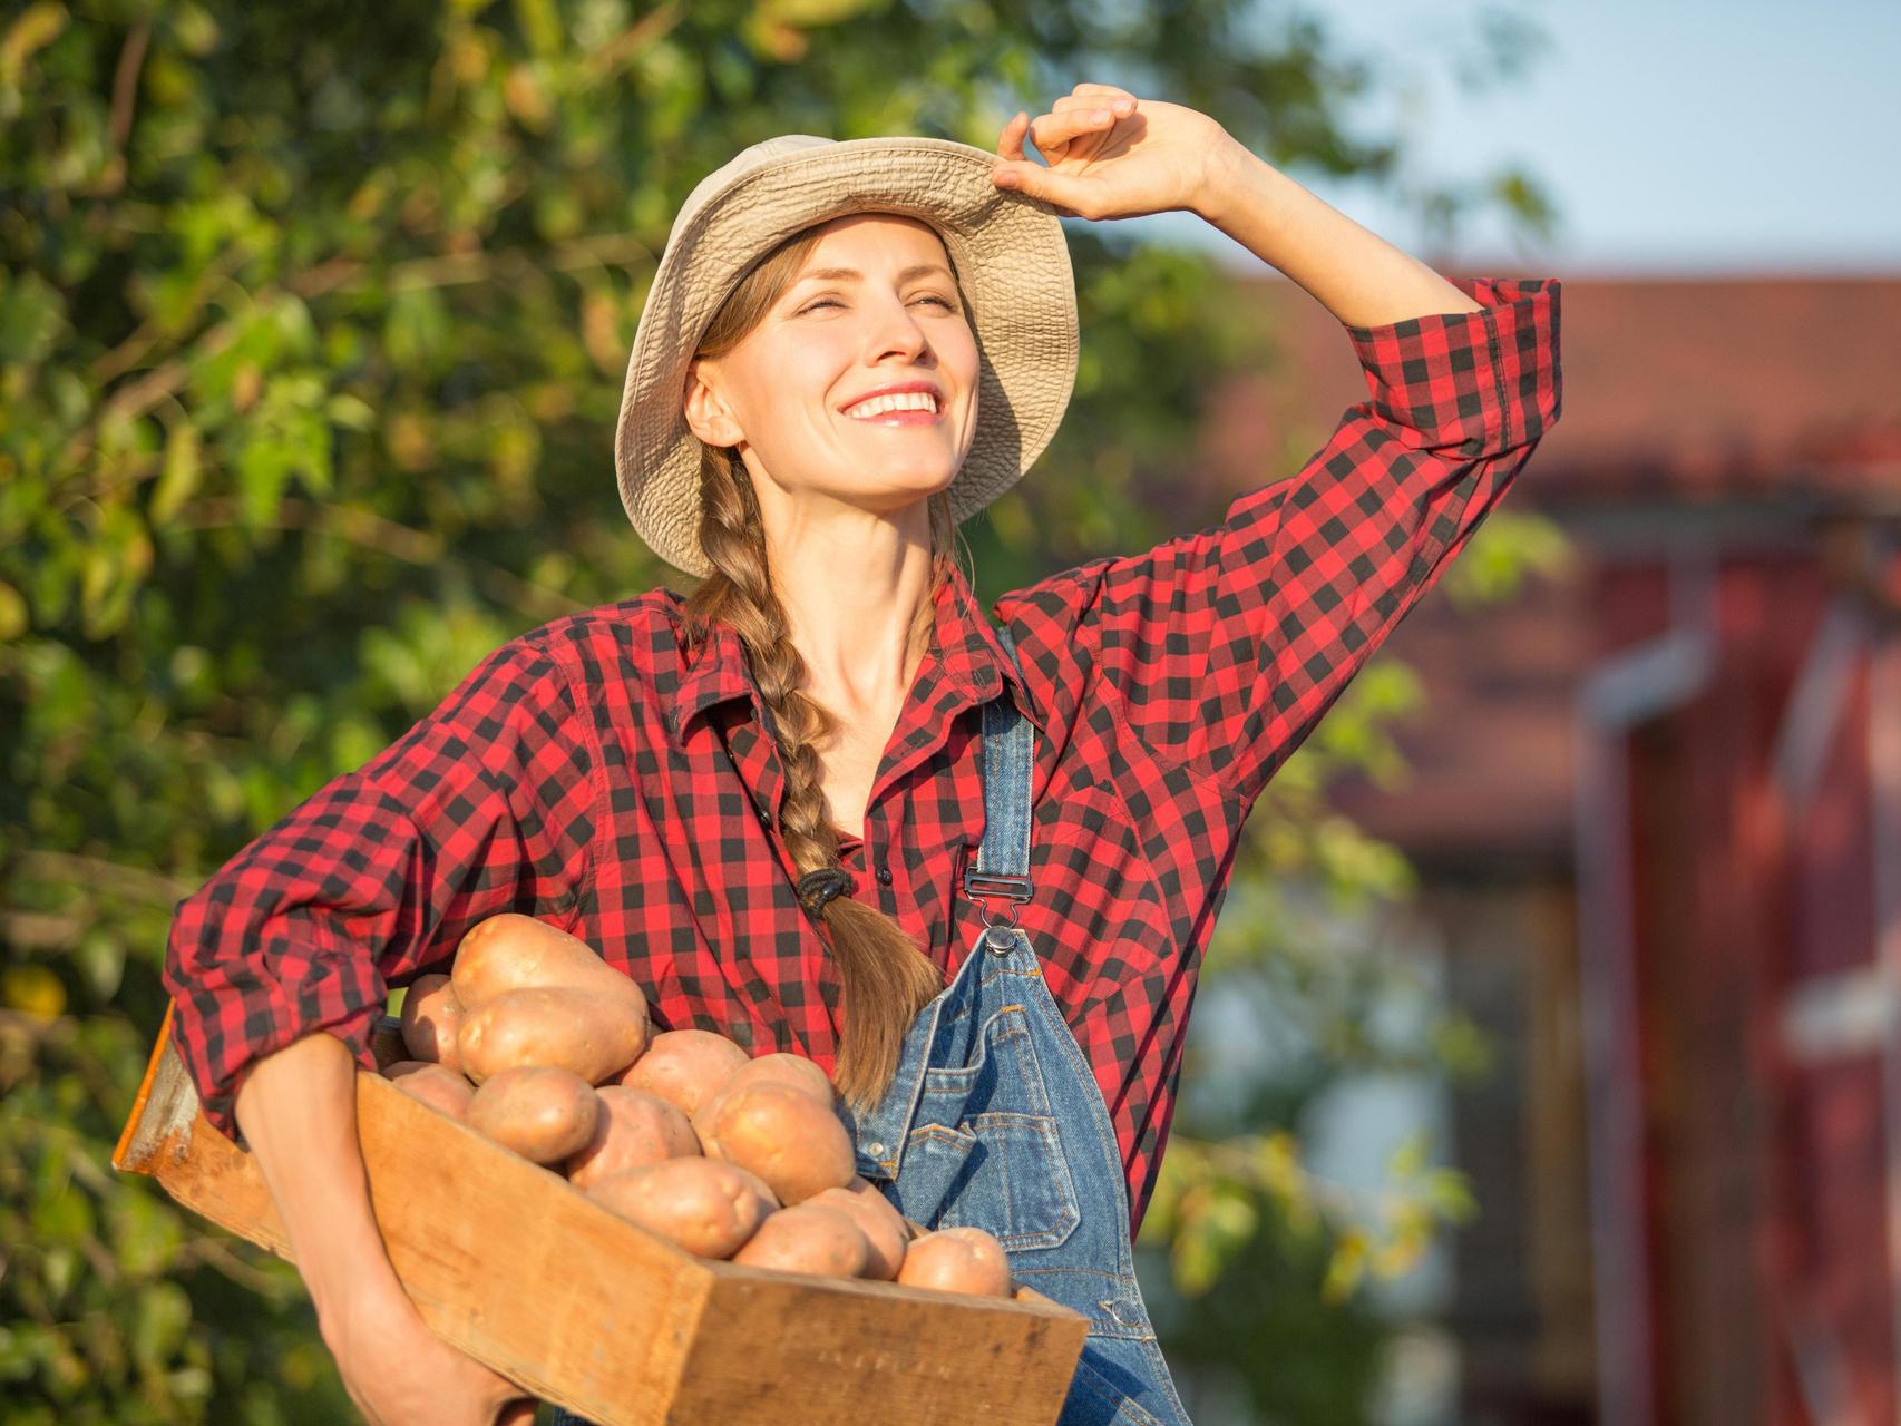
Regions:
<instances>
[{"instance_id":1,"label":"bare forearm of the lowered arm wrapped around the wooden crate","mask_svg":"<svg viewBox=\"0 0 1901 1426\"><path fill-rule=\"evenodd\" d=\"M348 1312L409 1301L369 1202L355 1070L348 1046L317 1031L251 1067L236 1101L325 1337Z\"/></svg>"}]
</instances>

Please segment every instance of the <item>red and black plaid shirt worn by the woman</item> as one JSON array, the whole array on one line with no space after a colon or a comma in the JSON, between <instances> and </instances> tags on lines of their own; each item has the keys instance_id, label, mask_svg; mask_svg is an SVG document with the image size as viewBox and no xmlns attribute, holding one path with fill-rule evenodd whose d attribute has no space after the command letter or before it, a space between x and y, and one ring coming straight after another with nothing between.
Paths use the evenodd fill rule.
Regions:
<instances>
[{"instance_id":1,"label":"red and black plaid shirt worn by the woman","mask_svg":"<svg viewBox=\"0 0 1901 1426\"><path fill-rule=\"evenodd\" d=\"M842 846L949 983L983 926L958 894L979 705L1009 690L1040 734L1021 922L1116 1124L1131 1234L1249 808L1559 416L1559 283L1456 285L1483 310L1346 329L1371 401L1293 479L1000 597L1021 683L952 578ZM764 703L730 629L682 656L679 610L652 589L508 643L179 905L165 987L219 1129L243 1070L314 1029L373 1069L390 987L498 911L597 947L658 1027L833 1067L838 977L793 894Z\"/></svg>"}]
</instances>

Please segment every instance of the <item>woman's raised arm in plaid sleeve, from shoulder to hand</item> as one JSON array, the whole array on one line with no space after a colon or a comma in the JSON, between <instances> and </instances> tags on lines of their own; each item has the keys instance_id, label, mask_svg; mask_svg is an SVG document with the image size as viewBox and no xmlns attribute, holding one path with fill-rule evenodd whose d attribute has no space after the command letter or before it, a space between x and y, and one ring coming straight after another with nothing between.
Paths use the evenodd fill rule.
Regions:
<instances>
[{"instance_id":1,"label":"woman's raised arm in plaid sleeve, from shoulder to hand","mask_svg":"<svg viewBox=\"0 0 1901 1426\"><path fill-rule=\"evenodd\" d=\"M1087 103L1122 93L1080 89L1091 95L1059 120L1074 110L1080 125ZM1065 698L1110 700L1154 757L1251 804L1557 422L1561 285L1441 278L1203 116L1146 99L1141 112L1150 137L1068 183L1053 164L1032 190L1114 215L1150 211L1190 175L1163 196L1340 318L1369 399L1220 525L1063 570L994 608L1059 721L1082 711ZM1143 167L1148 143L1160 148ZM1099 169L1108 198L1089 186Z\"/></svg>"}]
</instances>

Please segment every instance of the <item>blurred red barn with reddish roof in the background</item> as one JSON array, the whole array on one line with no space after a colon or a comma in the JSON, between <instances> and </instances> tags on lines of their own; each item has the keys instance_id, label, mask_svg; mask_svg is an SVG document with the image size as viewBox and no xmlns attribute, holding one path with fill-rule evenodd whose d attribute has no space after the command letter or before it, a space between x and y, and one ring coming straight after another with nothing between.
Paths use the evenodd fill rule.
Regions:
<instances>
[{"instance_id":1,"label":"blurred red barn with reddish roof in the background","mask_svg":"<svg viewBox=\"0 0 1901 1426\"><path fill-rule=\"evenodd\" d=\"M1456 270L1456 268L1454 268ZM1333 318L1232 382L1245 489L1363 399ZM1462 1420L1901 1415L1901 279L1572 279L1565 416L1507 508L1570 576L1390 650L1422 869L1504 1053L1456 1101Z\"/></svg>"}]
</instances>

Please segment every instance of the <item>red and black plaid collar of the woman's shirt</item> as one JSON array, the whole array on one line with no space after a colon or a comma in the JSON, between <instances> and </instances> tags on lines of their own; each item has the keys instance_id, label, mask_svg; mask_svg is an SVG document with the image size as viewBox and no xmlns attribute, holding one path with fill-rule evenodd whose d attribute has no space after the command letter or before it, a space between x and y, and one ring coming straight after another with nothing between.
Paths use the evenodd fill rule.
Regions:
<instances>
[{"instance_id":1,"label":"red and black plaid collar of the woman's shirt","mask_svg":"<svg viewBox=\"0 0 1901 1426\"><path fill-rule=\"evenodd\" d=\"M1023 679L1004 652L996 627L977 608L977 597L964 578L964 572L950 567L950 574L937 591L937 622L931 633L931 650L924 656L918 671L920 679L947 679L971 703L987 703L998 692L1009 690L1011 702L1036 730L1047 736L1036 709L1023 688ZM675 690L673 709L667 726L684 743L692 721L732 698L749 698L760 726L770 728L764 696L753 683L751 665L745 660L745 645L726 624L715 624L705 643L688 654L686 671ZM924 688L930 700L930 684Z\"/></svg>"}]
</instances>

